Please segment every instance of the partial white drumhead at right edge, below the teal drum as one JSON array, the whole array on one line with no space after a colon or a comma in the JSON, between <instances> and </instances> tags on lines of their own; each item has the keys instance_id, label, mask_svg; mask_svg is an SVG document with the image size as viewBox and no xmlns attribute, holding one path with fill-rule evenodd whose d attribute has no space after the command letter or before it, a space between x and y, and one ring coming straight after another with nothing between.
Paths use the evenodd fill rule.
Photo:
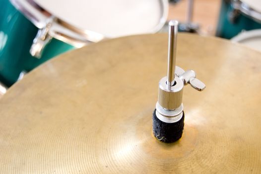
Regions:
<instances>
[{"instance_id":1,"label":"partial white drumhead at right edge, below the teal drum","mask_svg":"<svg viewBox=\"0 0 261 174\"><path fill-rule=\"evenodd\" d=\"M261 29L242 32L231 40L261 51Z\"/></svg>"}]
</instances>

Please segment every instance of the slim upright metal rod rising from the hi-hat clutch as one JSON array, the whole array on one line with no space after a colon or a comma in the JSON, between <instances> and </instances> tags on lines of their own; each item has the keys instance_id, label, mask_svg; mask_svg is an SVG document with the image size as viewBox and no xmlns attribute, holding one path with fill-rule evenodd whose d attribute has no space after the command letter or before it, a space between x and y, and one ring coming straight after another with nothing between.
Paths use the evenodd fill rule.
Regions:
<instances>
[{"instance_id":1,"label":"slim upright metal rod rising from the hi-hat clutch","mask_svg":"<svg viewBox=\"0 0 261 174\"><path fill-rule=\"evenodd\" d=\"M177 48L177 34L178 34L177 20L169 22L169 45L168 45L168 73L167 86L171 87L175 83L175 66L176 66L176 48Z\"/></svg>"}]
</instances>

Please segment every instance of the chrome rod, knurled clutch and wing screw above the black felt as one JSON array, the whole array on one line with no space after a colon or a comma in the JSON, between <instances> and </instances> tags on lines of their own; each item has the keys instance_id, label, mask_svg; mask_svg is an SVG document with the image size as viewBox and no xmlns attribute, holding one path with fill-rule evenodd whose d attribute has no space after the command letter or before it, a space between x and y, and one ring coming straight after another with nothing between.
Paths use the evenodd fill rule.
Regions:
<instances>
[{"instance_id":1,"label":"chrome rod, knurled clutch and wing screw above the black felt","mask_svg":"<svg viewBox=\"0 0 261 174\"><path fill-rule=\"evenodd\" d=\"M176 48L178 24L176 20L169 22L168 71L167 76L159 81L156 116L163 122L174 123L183 116L183 87L191 84L196 90L203 90L205 84L196 79L193 70L184 71L176 66Z\"/></svg>"}]
</instances>

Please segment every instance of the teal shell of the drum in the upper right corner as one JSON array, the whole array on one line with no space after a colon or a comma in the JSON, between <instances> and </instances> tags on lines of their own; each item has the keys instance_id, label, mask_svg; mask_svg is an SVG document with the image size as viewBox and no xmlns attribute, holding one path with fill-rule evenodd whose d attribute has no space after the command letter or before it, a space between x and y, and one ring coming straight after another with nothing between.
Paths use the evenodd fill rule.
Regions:
<instances>
[{"instance_id":1,"label":"teal shell of the drum in the upper right corner","mask_svg":"<svg viewBox=\"0 0 261 174\"><path fill-rule=\"evenodd\" d=\"M261 28L261 23L241 12L236 14L234 20L231 20L230 16L233 13L231 1L222 0L216 36L231 39L242 30L248 31Z\"/></svg>"}]
</instances>

